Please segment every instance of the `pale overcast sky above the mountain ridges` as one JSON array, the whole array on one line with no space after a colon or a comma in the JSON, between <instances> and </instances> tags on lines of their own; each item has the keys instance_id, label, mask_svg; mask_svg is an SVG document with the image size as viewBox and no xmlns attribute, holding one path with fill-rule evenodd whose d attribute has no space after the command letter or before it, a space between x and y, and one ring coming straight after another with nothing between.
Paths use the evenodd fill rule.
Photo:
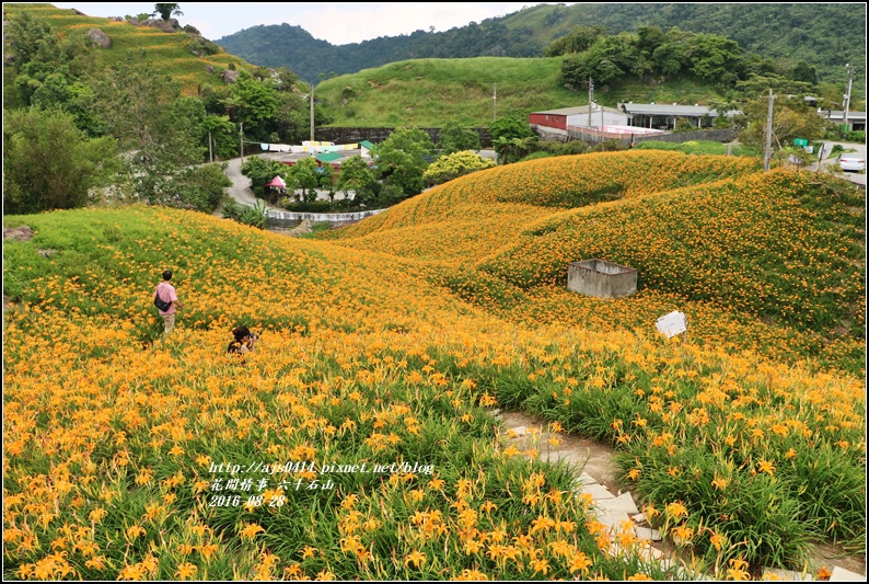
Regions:
<instances>
[{"instance_id":1,"label":"pale overcast sky above the mountain ridges","mask_svg":"<svg viewBox=\"0 0 869 584\"><path fill-rule=\"evenodd\" d=\"M314 38L333 45L361 43L379 36L415 31L449 31L471 22L505 16L541 3L556 2L178 2L182 25L190 24L202 36L217 41L259 24L301 26ZM573 4L576 2L560 2ZM51 2L74 8L89 16L135 16L153 12L149 2Z\"/></svg>"}]
</instances>

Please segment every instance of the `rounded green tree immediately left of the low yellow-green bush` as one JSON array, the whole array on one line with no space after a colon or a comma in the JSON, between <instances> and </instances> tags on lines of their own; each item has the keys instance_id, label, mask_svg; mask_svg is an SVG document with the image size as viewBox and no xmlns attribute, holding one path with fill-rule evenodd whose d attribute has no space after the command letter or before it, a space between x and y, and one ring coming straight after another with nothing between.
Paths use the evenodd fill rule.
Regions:
<instances>
[{"instance_id":1,"label":"rounded green tree immediately left of the low yellow-green bush","mask_svg":"<svg viewBox=\"0 0 869 584\"><path fill-rule=\"evenodd\" d=\"M372 148L376 159L375 175L383 186L401 190L405 197L422 192L426 157L434 151L429 135L419 128L397 128L389 138Z\"/></svg>"}]
</instances>

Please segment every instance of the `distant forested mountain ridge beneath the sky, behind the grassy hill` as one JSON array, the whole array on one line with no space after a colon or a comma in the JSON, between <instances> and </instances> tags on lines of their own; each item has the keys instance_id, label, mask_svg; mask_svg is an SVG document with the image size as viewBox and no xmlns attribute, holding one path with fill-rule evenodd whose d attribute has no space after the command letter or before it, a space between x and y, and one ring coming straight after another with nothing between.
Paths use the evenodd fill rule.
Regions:
<instances>
[{"instance_id":1,"label":"distant forested mountain ridge beneath the sky, behind the grassy hill","mask_svg":"<svg viewBox=\"0 0 869 584\"><path fill-rule=\"evenodd\" d=\"M406 59L542 57L549 43L577 25L601 25L607 34L648 25L715 33L737 41L748 54L815 66L821 81L844 83L846 62L855 66L859 87L866 79L865 3L537 4L445 32L416 31L347 45L315 39L289 24L246 28L217 43L254 65L287 66L313 80Z\"/></svg>"}]
</instances>

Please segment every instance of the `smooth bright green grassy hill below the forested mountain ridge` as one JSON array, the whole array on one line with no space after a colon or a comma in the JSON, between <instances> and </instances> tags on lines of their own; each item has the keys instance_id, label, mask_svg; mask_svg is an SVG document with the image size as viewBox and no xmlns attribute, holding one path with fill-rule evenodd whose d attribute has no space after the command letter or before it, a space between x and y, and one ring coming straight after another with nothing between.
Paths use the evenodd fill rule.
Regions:
<instances>
[{"instance_id":1,"label":"smooth bright green grassy hill below the forested mountain ridge","mask_svg":"<svg viewBox=\"0 0 869 584\"><path fill-rule=\"evenodd\" d=\"M324 80L316 85L316 101L334 127L441 127L444 119L485 127L496 116L524 118L531 112L588 104L587 91L558 82L560 66L561 57L399 61ZM698 83L625 82L598 88L594 99L607 106L621 101L706 103L715 94Z\"/></svg>"}]
</instances>

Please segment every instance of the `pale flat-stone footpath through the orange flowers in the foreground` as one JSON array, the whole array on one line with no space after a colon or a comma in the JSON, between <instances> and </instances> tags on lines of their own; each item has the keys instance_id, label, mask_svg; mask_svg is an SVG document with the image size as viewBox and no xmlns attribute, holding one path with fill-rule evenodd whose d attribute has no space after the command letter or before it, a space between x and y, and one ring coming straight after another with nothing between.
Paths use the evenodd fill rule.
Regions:
<instances>
[{"instance_id":1,"label":"pale flat-stone footpath through the orange flowers in the foreground","mask_svg":"<svg viewBox=\"0 0 869 584\"><path fill-rule=\"evenodd\" d=\"M563 461L575 469L579 476L576 479L576 492L588 493L591 495L589 511L591 515L610 531L610 551L618 552L617 536L623 530L634 529L634 533L644 543L644 556L649 562L660 562L662 569L672 573L672 580L703 580L714 579L693 572L679 559L676 546L671 540L664 540L658 530L652 529L646 522L646 517L637 508L634 495L626 491L616 489L615 477L618 469L612 462L613 449L605 444L594 440L586 440L573 436L558 434L561 440L558 446L549 446L547 442L553 434L545 428L547 423L522 413L502 413L500 410L491 412L493 415L502 422L503 439L514 445L519 449L529 447L541 450L540 458L545 461ZM595 478L596 477L596 478ZM806 573L791 570L779 570L767 568L764 570L762 580L779 581L813 581L813 574L825 566L832 571L830 582L866 582L866 563L862 564L862 574L847 570L845 568L831 564L835 560L813 558L809 561L809 569ZM851 568L856 568L850 562Z\"/></svg>"}]
</instances>

